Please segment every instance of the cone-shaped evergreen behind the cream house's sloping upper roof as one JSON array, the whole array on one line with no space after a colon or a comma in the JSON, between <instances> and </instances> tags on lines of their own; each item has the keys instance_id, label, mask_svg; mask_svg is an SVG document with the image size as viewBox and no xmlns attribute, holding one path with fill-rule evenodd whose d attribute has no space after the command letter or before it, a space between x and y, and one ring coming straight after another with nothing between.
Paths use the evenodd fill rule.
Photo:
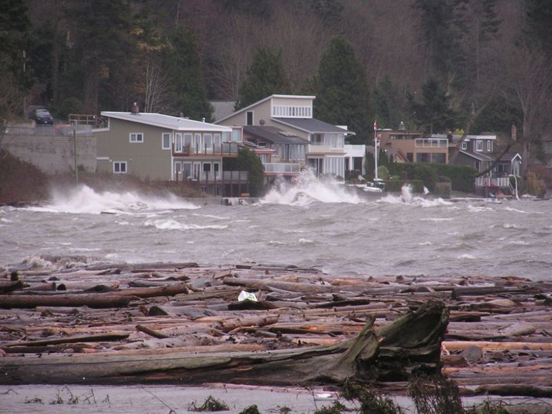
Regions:
<instances>
[{"instance_id":1,"label":"cone-shaped evergreen behind the cream house's sloping upper roof","mask_svg":"<svg viewBox=\"0 0 552 414\"><path fill-rule=\"evenodd\" d=\"M253 55L253 62L239 88L235 110L276 93L288 93L289 89L282 51L275 55L268 49L259 48Z\"/></svg>"}]
</instances>

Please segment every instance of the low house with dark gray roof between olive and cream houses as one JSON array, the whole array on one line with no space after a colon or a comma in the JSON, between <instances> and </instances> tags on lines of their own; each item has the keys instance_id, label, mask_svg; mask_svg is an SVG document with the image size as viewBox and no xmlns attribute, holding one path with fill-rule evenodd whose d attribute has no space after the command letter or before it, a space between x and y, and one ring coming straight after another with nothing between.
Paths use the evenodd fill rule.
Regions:
<instances>
[{"instance_id":1,"label":"low house with dark gray roof between olive and cream houses","mask_svg":"<svg viewBox=\"0 0 552 414\"><path fill-rule=\"evenodd\" d=\"M308 141L274 126L244 126L244 144L255 144L253 151L264 166L265 182L275 177L297 177L306 166Z\"/></svg>"}]
</instances>

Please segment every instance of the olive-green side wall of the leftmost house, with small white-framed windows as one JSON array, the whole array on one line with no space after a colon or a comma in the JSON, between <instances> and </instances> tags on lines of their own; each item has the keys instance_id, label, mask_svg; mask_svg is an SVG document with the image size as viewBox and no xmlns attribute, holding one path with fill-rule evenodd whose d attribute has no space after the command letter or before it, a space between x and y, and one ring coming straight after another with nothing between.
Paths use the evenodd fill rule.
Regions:
<instances>
[{"instance_id":1,"label":"olive-green side wall of the leftmost house, with small white-framed windows","mask_svg":"<svg viewBox=\"0 0 552 414\"><path fill-rule=\"evenodd\" d=\"M144 141L130 143L131 132L143 133ZM172 131L110 118L108 131L95 132L98 171L113 172L113 161L126 161L127 174L141 179L171 179L171 152L161 149L162 132Z\"/></svg>"}]
</instances>

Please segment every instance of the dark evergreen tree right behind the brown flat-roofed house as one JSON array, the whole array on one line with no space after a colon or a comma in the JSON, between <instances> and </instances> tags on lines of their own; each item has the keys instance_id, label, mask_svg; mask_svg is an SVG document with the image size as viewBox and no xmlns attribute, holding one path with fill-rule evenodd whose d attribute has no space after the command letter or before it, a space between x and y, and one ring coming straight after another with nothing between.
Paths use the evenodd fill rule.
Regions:
<instances>
[{"instance_id":1,"label":"dark evergreen tree right behind the brown flat-roofed house","mask_svg":"<svg viewBox=\"0 0 552 414\"><path fill-rule=\"evenodd\" d=\"M408 102L414 119L425 132L432 134L451 130L457 115L451 109L449 96L435 77L429 77L422 85L422 102L415 101L412 94Z\"/></svg>"}]
</instances>

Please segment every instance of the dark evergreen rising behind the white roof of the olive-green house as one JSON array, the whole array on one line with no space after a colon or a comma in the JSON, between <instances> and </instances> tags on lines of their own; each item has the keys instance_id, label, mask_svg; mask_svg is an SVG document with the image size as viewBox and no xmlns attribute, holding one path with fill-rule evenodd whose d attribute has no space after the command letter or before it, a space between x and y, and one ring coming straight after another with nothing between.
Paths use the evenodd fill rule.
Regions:
<instances>
[{"instance_id":1,"label":"dark evergreen rising behind the white roof of the olive-green house","mask_svg":"<svg viewBox=\"0 0 552 414\"><path fill-rule=\"evenodd\" d=\"M166 79L171 85L172 112L190 119L211 120L213 108L207 100L201 60L195 37L177 30L169 39L164 52Z\"/></svg>"}]
</instances>

